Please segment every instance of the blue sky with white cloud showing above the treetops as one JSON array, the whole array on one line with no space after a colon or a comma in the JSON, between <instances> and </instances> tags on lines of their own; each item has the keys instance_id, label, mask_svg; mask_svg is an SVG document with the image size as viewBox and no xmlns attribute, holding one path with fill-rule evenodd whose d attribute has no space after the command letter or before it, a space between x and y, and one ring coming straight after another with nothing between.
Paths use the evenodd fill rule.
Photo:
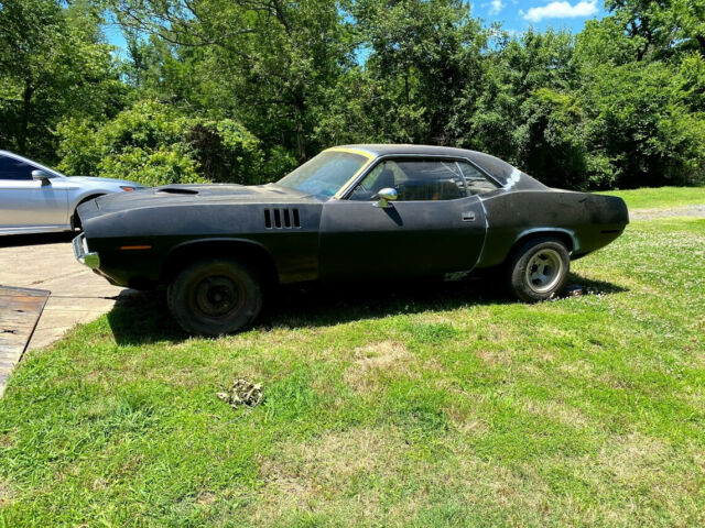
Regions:
<instances>
[{"instance_id":1,"label":"blue sky with white cloud showing above the treetops","mask_svg":"<svg viewBox=\"0 0 705 528\"><path fill-rule=\"evenodd\" d=\"M488 24L501 22L506 30L516 33L550 26L577 33L586 20L607 14L603 0L473 0L470 8L473 16ZM124 38L116 24L106 24L104 32L110 44L124 47Z\"/></svg>"}]
</instances>

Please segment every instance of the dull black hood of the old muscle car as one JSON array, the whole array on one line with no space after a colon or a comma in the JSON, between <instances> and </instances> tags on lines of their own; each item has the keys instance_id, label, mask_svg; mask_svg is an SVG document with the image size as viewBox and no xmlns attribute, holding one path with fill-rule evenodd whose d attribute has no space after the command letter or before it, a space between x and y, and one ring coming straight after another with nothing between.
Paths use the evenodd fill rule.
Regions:
<instances>
[{"instance_id":1,"label":"dull black hood of the old muscle car","mask_svg":"<svg viewBox=\"0 0 705 528\"><path fill-rule=\"evenodd\" d=\"M166 185L133 193L101 196L96 200L96 207L100 213L110 213L145 207L224 201L231 204L286 204L319 201L319 199L274 184L252 186L231 184Z\"/></svg>"}]
</instances>

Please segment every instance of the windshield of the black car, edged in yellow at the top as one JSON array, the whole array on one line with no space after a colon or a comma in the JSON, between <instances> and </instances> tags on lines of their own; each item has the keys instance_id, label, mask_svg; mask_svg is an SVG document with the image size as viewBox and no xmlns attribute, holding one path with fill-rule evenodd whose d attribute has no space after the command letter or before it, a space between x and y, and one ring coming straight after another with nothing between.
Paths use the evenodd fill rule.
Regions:
<instances>
[{"instance_id":1,"label":"windshield of the black car, edged in yellow at the top","mask_svg":"<svg viewBox=\"0 0 705 528\"><path fill-rule=\"evenodd\" d=\"M360 154L325 151L276 183L302 193L330 198L366 163L367 158Z\"/></svg>"}]
</instances>

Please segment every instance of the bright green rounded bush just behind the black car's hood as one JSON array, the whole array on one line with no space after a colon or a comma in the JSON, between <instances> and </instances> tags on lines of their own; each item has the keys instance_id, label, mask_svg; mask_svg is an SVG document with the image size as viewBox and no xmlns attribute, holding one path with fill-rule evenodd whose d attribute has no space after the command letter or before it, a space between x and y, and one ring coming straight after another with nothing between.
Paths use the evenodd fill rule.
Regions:
<instances>
[{"instance_id":1,"label":"bright green rounded bush just behind the black car's hood","mask_svg":"<svg viewBox=\"0 0 705 528\"><path fill-rule=\"evenodd\" d=\"M139 101L97 129L69 120L58 127L59 168L145 185L260 183L259 141L234 120L185 117L153 100Z\"/></svg>"}]
</instances>

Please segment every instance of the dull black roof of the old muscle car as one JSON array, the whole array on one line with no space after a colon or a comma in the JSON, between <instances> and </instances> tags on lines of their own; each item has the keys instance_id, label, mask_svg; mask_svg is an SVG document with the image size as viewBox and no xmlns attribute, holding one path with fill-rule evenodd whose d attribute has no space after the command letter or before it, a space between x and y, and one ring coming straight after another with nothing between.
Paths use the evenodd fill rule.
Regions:
<instances>
[{"instance_id":1,"label":"dull black roof of the old muscle car","mask_svg":"<svg viewBox=\"0 0 705 528\"><path fill-rule=\"evenodd\" d=\"M466 148L455 148L452 146L434 146L434 145L408 145L408 144L355 144L355 145L340 145L333 148L347 148L351 151L362 151L375 157L389 156L389 155L415 155L415 156L451 156L451 157L464 157L470 160L480 168L489 173L502 185L507 185L512 178L518 178L519 175L525 179L531 178L529 175L521 173L517 167L500 160L499 157L484 152L470 151Z\"/></svg>"}]
</instances>

